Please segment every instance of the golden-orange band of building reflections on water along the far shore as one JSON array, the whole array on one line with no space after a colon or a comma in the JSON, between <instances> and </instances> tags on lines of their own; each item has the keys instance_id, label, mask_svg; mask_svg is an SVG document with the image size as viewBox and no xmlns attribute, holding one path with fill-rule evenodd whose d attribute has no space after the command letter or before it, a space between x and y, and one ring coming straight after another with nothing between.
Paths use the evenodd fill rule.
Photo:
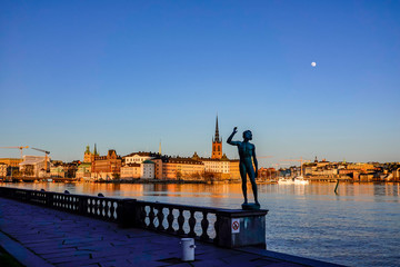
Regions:
<instances>
[{"instance_id":1,"label":"golden-orange band of building reflections on water along the far shore","mask_svg":"<svg viewBox=\"0 0 400 267\"><path fill-rule=\"evenodd\" d=\"M197 184L61 184L61 182L0 182L0 186L28 188L47 191L119 198L138 198L144 196L188 197L188 198L242 198L240 184L197 185ZM334 195L336 182L311 182L310 185L259 185L259 194L272 198L286 196L323 199L324 196L337 200L352 201L399 201L400 184L351 184L340 182L338 195ZM372 197L372 198L371 198Z\"/></svg>"}]
</instances>

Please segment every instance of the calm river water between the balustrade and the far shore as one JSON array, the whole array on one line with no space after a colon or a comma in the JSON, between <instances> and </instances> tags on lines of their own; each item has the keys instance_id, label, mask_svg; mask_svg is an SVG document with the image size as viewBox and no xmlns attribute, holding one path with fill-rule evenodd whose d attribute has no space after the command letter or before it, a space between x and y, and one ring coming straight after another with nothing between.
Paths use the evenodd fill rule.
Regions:
<instances>
[{"instance_id":1,"label":"calm river water between the balustrade and the far shore","mask_svg":"<svg viewBox=\"0 0 400 267\"><path fill-rule=\"evenodd\" d=\"M239 208L240 185L0 184ZM259 185L269 250L349 266L400 266L399 184ZM252 198L251 198L252 199Z\"/></svg>"}]
</instances>

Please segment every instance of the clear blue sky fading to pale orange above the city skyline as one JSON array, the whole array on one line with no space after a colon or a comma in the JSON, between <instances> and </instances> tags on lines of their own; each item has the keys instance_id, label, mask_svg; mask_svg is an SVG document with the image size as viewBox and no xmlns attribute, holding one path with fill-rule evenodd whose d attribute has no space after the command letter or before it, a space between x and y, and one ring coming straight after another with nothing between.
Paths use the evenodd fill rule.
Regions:
<instances>
[{"instance_id":1,"label":"clear blue sky fading to pale orange above the city skyline","mask_svg":"<svg viewBox=\"0 0 400 267\"><path fill-rule=\"evenodd\" d=\"M208 157L218 113L223 141L253 131L264 167L400 160L400 1L0 7L0 147L69 161L94 142L124 156L161 140Z\"/></svg>"}]
</instances>

